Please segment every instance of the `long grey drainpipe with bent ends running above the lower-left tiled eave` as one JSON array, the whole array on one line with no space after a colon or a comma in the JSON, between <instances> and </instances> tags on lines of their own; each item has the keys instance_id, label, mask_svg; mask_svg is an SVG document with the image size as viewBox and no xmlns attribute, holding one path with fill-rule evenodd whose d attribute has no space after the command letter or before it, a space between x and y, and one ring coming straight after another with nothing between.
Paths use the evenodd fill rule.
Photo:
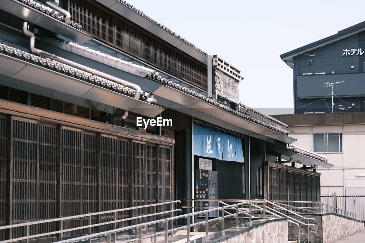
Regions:
<instances>
[{"instance_id":1,"label":"long grey drainpipe with bent ends running above the lower-left tiled eave","mask_svg":"<svg viewBox=\"0 0 365 243\"><path fill-rule=\"evenodd\" d=\"M31 31L28 30L28 22L26 22L26 21L23 22L23 34L30 37L29 49L30 49L30 51L32 53L36 53L38 55L45 56L45 57L50 58L50 59L53 59L55 61L59 61L59 62L65 63L65 64L67 64L69 66L76 67L76 68L81 69L81 70L83 70L85 72L94 74L96 76L100 76L102 78L105 78L107 80L116 82L116 83L121 84L121 85L124 85L124 86L126 86L128 88L135 89L136 92L134 94L134 98L135 99L139 99L139 96L141 95L141 87L138 86L138 85L136 85L136 84L132 84L131 82L122 80L120 78L116 78L116 77L111 76L109 74L106 74L106 73L97 71L97 70L92 69L90 67L81 65L81 64L76 63L76 62L72 62L72 61L70 61L68 59L65 59L65 58L62 58L62 57L58 57L58 56L56 56L54 54L51 54L51 53L48 53L46 51L42 51L42 50L39 50L39 49L35 48L34 47L34 42L35 42L34 41L34 34L33 34L33 32L31 32Z\"/></svg>"}]
</instances>

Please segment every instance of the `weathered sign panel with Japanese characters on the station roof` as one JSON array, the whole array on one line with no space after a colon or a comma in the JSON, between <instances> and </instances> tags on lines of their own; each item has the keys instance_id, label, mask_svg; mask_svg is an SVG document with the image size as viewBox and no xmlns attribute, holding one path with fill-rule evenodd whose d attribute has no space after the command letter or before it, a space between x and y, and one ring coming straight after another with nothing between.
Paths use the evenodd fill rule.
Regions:
<instances>
[{"instance_id":1,"label":"weathered sign panel with Japanese characters on the station roof","mask_svg":"<svg viewBox=\"0 0 365 243\"><path fill-rule=\"evenodd\" d=\"M220 97L227 97L234 103L239 103L239 81L215 69L215 93Z\"/></svg>"}]
</instances>

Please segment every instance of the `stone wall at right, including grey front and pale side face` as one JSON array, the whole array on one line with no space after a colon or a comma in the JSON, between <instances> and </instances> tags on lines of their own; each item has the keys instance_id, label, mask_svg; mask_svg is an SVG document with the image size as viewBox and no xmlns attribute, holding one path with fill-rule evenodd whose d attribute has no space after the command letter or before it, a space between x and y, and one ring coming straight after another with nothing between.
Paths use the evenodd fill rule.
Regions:
<instances>
[{"instance_id":1,"label":"stone wall at right, including grey front and pale side face","mask_svg":"<svg viewBox=\"0 0 365 243\"><path fill-rule=\"evenodd\" d=\"M291 217L307 223L307 220L301 219L299 216L290 215ZM349 217L337 215L334 213L324 214L303 214L307 218L314 218L310 220L310 224L314 226L309 227L309 242L310 243L329 243L347 235L354 234L357 231L364 229L364 222L350 219ZM307 243L308 229L306 225L300 227L300 243ZM296 224L288 223L288 239L298 240L298 226Z\"/></svg>"}]
</instances>

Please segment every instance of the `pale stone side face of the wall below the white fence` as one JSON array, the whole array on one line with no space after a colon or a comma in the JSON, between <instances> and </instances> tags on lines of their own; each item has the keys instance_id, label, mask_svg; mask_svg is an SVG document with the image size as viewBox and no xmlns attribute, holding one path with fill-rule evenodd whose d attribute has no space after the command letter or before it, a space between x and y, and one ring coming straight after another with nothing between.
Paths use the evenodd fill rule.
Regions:
<instances>
[{"instance_id":1,"label":"pale stone side face of the wall below the white fence","mask_svg":"<svg viewBox=\"0 0 365 243\"><path fill-rule=\"evenodd\" d=\"M351 220L337 214L326 214L322 217L323 243L333 242L347 235L365 229L363 221Z\"/></svg>"}]
</instances>

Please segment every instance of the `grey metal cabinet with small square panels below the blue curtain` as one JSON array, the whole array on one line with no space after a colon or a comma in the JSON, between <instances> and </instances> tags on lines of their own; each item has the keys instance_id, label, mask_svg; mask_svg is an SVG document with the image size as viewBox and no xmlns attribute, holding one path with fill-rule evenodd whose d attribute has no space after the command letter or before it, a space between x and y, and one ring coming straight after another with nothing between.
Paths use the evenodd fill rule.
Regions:
<instances>
[{"instance_id":1,"label":"grey metal cabinet with small square panels below the blue curtain","mask_svg":"<svg viewBox=\"0 0 365 243\"><path fill-rule=\"evenodd\" d=\"M195 170L195 198L202 201L197 202L197 207L218 207L217 202L203 201L205 199L218 199L218 178L217 171ZM202 211L201 209L198 211ZM218 216L218 212L211 212L209 216Z\"/></svg>"}]
</instances>

